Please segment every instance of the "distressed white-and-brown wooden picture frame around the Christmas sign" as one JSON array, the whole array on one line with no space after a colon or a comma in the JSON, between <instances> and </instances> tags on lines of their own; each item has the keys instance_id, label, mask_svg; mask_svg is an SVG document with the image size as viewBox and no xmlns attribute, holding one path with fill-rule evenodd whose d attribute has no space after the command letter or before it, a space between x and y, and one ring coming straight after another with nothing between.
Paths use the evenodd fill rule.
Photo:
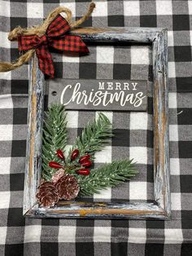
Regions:
<instances>
[{"instance_id":1,"label":"distressed white-and-brown wooden picture frame around the Christmas sign","mask_svg":"<svg viewBox=\"0 0 192 256\"><path fill-rule=\"evenodd\" d=\"M76 29L85 42L146 43L152 46L154 112L154 203L59 201L53 208L39 207L41 135L45 79L37 57L30 64L28 139L24 180L24 216L33 218L170 218L168 148L168 40L167 29Z\"/></svg>"}]
</instances>

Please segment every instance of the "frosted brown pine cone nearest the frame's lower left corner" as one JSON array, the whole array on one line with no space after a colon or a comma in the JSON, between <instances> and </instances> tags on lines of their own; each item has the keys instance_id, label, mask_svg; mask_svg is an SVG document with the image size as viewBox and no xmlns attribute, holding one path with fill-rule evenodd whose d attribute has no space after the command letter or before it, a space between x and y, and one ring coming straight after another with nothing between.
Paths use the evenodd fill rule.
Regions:
<instances>
[{"instance_id":1,"label":"frosted brown pine cone nearest the frame's lower left corner","mask_svg":"<svg viewBox=\"0 0 192 256\"><path fill-rule=\"evenodd\" d=\"M40 184L36 196L39 204L44 207L54 206L59 201L58 192L54 183L49 181Z\"/></svg>"}]
</instances>

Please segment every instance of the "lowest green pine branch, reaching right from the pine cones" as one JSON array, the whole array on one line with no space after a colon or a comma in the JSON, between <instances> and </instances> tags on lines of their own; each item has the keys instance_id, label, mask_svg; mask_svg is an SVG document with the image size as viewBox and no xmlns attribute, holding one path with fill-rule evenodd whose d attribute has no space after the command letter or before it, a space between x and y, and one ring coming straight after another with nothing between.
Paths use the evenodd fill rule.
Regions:
<instances>
[{"instance_id":1,"label":"lowest green pine branch, reaching right from the pine cones","mask_svg":"<svg viewBox=\"0 0 192 256\"><path fill-rule=\"evenodd\" d=\"M116 187L119 183L131 179L137 174L133 160L112 161L98 169L91 170L89 176L77 176L81 191L79 196L91 196L108 187Z\"/></svg>"}]
</instances>

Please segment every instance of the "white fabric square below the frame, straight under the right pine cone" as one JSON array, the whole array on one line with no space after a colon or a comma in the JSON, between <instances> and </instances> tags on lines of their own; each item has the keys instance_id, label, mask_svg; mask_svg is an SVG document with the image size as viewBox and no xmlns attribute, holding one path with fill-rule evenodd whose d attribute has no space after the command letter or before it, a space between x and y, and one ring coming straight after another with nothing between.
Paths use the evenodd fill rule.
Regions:
<instances>
[{"instance_id":1,"label":"white fabric square below the frame, straight under the right pine cone","mask_svg":"<svg viewBox=\"0 0 192 256\"><path fill-rule=\"evenodd\" d=\"M75 243L76 227L74 226L59 226L59 242Z\"/></svg>"}]
</instances>

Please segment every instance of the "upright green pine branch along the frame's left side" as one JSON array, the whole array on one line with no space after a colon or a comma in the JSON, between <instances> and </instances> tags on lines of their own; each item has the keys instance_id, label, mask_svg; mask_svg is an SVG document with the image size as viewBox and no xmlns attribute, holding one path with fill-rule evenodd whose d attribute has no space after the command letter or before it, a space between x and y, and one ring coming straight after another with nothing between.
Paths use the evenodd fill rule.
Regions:
<instances>
[{"instance_id":1,"label":"upright green pine branch along the frame's left side","mask_svg":"<svg viewBox=\"0 0 192 256\"><path fill-rule=\"evenodd\" d=\"M49 180L56 171L49 167L49 162L61 162L56 151L61 149L64 152L67 144L67 113L64 111L63 105L52 104L48 107L45 115L42 136L42 178Z\"/></svg>"}]
</instances>

